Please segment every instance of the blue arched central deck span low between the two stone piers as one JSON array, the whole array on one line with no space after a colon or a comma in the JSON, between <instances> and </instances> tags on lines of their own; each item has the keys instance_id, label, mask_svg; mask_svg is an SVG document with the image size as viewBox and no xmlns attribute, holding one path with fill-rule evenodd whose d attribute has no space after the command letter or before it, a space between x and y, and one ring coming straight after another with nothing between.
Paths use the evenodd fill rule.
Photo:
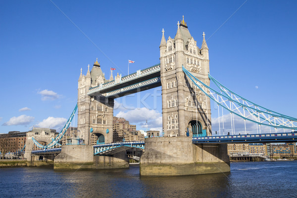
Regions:
<instances>
[{"instance_id":1,"label":"blue arched central deck span low between the two stone piers","mask_svg":"<svg viewBox=\"0 0 297 198\"><path fill-rule=\"evenodd\" d=\"M94 145L94 155L115 154L117 152L127 150L129 148L145 149L145 141Z\"/></svg>"}]
</instances>

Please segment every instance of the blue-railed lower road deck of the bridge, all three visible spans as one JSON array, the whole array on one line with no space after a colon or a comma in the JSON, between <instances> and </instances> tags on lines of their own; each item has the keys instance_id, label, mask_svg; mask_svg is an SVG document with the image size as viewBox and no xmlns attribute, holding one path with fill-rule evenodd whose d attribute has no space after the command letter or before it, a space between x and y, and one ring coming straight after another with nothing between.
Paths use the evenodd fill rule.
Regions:
<instances>
[{"instance_id":1,"label":"blue-railed lower road deck of the bridge, all three visible spans","mask_svg":"<svg viewBox=\"0 0 297 198\"><path fill-rule=\"evenodd\" d=\"M290 133L245 134L193 137L193 144L240 144L297 142L297 131ZM129 148L145 149L145 141L94 145L94 155L112 155ZM32 150L32 154L60 153L61 148Z\"/></svg>"}]
</instances>

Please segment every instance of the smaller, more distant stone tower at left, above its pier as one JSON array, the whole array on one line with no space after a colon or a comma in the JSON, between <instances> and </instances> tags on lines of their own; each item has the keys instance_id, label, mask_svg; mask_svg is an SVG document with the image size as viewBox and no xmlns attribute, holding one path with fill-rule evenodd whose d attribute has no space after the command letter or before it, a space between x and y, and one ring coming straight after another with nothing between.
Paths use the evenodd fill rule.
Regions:
<instances>
[{"instance_id":1,"label":"smaller, more distant stone tower at left, above its pier","mask_svg":"<svg viewBox=\"0 0 297 198\"><path fill-rule=\"evenodd\" d=\"M110 79L113 80L113 79ZM87 75L81 74L78 80L78 136L85 140L86 145L96 145L112 142L113 99L104 96L90 97L87 95L89 88L102 86L109 82L105 79L98 59Z\"/></svg>"}]
</instances>

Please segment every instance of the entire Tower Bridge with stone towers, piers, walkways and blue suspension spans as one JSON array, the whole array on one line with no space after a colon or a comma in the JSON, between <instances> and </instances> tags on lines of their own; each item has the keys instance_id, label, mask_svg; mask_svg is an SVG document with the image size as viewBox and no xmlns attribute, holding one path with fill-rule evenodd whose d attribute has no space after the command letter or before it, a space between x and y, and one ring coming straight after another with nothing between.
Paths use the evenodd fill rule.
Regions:
<instances>
[{"instance_id":1,"label":"entire Tower Bridge with stone towers, piers, walkways and blue suspension spans","mask_svg":"<svg viewBox=\"0 0 297 198\"><path fill-rule=\"evenodd\" d=\"M141 157L141 175L193 175L230 171L227 145L230 142L295 141L296 132L261 133L257 135L212 136L210 100L219 107L261 125L272 128L297 129L297 119L286 116L235 94L209 74L208 46L205 34L199 48L189 32L187 23L177 23L174 38L160 42L160 63L122 77L106 79L96 60L90 71L78 80L78 135L85 145L56 145L69 126L48 146L38 151L60 152L55 157L57 170L81 168L128 167L123 150L145 148ZM210 87L210 81L215 88ZM147 138L145 142L113 143L114 99L161 86L162 125L164 137ZM76 110L75 108L75 110ZM195 116L193 116L195 115ZM86 163L87 162L87 163Z\"/></svg>"}]
</instances>

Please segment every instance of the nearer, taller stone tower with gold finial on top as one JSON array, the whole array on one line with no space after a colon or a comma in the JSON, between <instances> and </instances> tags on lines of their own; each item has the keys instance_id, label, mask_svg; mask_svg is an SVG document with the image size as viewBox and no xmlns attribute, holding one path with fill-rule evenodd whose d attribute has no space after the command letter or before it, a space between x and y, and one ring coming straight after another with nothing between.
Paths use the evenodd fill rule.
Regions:
<instances>
[{"instance_id":1,"label":"nearer, taller stone tower with gold finial on top","mask_svg":"<svg viewBox=\"0 0 297 198\"><path fill-rule=\"evenodd\" d=\"M201 49L191 36L187 23L178 22L177 33L167 42L162 31L160 44L162 113L164 136L211 135L210 101L188 81L184 66L203 83L209 85L208 47L204 38ZM191 85L191 86L190 86Z\"/></svg>"}]
</instances>

